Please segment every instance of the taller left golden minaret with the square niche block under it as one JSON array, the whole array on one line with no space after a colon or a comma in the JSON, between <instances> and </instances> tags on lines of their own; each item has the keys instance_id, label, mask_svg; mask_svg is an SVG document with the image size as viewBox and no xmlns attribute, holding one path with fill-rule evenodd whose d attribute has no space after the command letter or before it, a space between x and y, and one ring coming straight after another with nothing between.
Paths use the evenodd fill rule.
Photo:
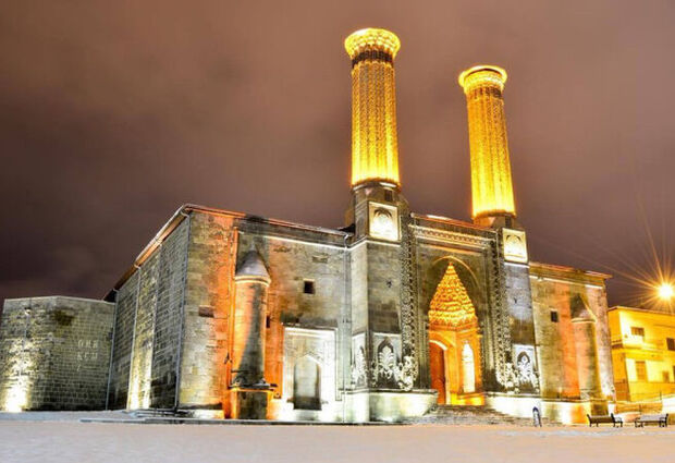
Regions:
<instances>
[{"instance_id":1,"label":"taller left golden minaret with the square niche block under it","mask_svg":"<svg viewBox=\"0 0 675 463\"><path fill-rule=\"evenodd\" d=\"M398 176L393 33L367 28L349 35L352 59L352 203L346 222L357 239L400 241L398 217L407 214ZM405 211L405 212L404 212Z\"/></svg>"}]
</instances>

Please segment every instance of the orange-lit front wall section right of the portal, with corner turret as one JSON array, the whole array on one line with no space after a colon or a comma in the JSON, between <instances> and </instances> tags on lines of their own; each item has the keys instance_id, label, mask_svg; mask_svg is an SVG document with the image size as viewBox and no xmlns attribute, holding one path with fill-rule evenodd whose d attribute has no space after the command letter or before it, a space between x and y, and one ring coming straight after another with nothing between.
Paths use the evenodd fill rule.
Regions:
<instances>
[{"instance_id":1,"label":"orange-lit front wall section right of the portal, with corner turret","mask_svg":"<svg viewBox=\"0 0 675 463\"><path fill-rule=\"evenodd\" d=\"M614 398L606 278L566 267L530 266L543 399L586 401L606 412L606 401Z\"/></svg>"}]
</instances>

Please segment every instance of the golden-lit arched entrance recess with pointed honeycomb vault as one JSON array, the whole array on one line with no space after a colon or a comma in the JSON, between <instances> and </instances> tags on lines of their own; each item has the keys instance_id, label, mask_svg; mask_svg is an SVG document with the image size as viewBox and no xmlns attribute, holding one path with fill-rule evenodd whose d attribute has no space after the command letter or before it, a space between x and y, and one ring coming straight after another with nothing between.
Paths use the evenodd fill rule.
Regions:
<instances>
[{"instance_id":1,"label":"golden-lit arched entrance recess with pointed honeycomb vault","mask_svg":"<svg viewBox=\"0 0 675 463\"><path fill-rule=\"evenodd\" d=\"M452 263L429 307L429 371L438 403L483 403L478 318Z\"/></svg>"}]
</instances>

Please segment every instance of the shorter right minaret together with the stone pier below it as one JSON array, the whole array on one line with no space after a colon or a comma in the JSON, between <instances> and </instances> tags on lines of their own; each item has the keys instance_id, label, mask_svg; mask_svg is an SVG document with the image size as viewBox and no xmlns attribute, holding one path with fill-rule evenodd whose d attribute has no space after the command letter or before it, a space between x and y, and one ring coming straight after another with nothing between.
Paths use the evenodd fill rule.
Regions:
<instances>
[{"instance_id":1,"label":"shorter right minaret together with the stone pier below it","mask_svg":"<svg viewBox=\"0 0 675 463\"><path fill-rule=\"evenodd\" d=\"M538 392L539 383L532 379L537 376L537 356L529 258L525 230L516 221L504 115L505 82L506 71L494 65L477 65L459 74L468 112L471 216L475 223L499 231L502 309L492 314L493 322L499 326L495 330L499 328L502 333L498 382L505 387L510 382L505 379L507 369L520 368L519 389ZM535 371L532 375L525 373L530 369Z\"/></svg>"}]
</instances>

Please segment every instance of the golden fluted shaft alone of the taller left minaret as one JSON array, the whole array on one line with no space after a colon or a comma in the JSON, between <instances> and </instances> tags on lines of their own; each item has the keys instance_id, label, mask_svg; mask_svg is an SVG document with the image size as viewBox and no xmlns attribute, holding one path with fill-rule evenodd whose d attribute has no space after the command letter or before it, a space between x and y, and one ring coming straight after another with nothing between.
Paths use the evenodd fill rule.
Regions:
<instances>
[{"instance_id":1,"label":"golden fluted shaft alone of the taller left minaret","mask_svg":"<svg viewBox=\"0 0 675 463\"><path fill-rule=\"evenodd\" d=\"M363 29L345 40L352 58L352 186L400 186L394 57L398 38Z\"/></svg>"}]
</instances>

